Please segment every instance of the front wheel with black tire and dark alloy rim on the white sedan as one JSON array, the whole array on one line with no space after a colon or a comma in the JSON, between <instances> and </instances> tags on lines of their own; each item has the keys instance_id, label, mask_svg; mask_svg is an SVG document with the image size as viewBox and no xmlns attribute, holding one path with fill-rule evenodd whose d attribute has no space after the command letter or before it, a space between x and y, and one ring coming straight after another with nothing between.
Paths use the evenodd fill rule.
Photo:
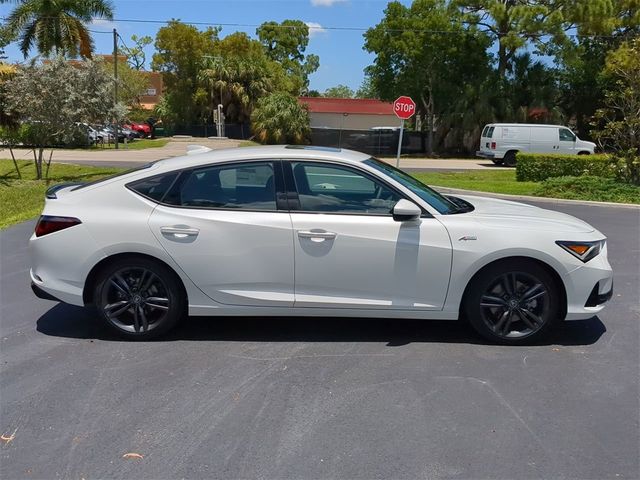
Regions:
<instances>
[{"instance_id":1,"label":"front wheel with black tire and dark alloy rim on the white sedan","mask_svg":"<svg viewBox=\"0 0 640 480\"><path fill-rule=\"evenodd\" d=\"M471 326L491 342L534 343L559 321L560 289L537 263L506 260L474 277L465 292L463 312Z\"/></svg>"}]
</instances>

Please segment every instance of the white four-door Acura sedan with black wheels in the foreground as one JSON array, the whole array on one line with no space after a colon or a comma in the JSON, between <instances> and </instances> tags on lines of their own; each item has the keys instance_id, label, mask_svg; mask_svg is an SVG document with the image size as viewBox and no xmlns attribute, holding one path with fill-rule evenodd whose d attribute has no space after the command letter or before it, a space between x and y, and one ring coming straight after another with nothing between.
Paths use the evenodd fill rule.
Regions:
<instances>
[{"instance_id":1,"label":"white four-door Acura sedan with black wheels in the foreground","mask_svg":"<svg viewBox=\"0 0 640 480\"><path fill-rule=\"evenodd\" d=\"M34 292L132 338L188 313L465 318L511 344L611 297L605 236L569 215L445 197L348 150L203 150L49 189Z\"/></svg>"}]
</instances>

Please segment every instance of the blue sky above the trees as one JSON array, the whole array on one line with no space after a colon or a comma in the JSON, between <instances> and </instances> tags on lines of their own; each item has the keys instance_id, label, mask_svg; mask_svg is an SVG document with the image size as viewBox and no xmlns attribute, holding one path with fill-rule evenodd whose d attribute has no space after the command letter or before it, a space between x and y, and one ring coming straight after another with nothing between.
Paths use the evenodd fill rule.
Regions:
<instances>
[{"instance_id":1,"label":"blue sky above the trees","mask_svg":"<svg viewBox=\"0 0 640 480\"><path fill-rule=\"evenodd\" d=\"M314 53L320 57L320 68L311 75L309 88L322 92L329 87L344 84L355 90L364 78L363 69L374 60L373 55L362 50L362 35L364 30L380 22L387 3L387 0L116 0L113 1L115 21L97 20L90 29L104 32L93 33L96 53L111 53L111 31L114 27L131 44L131 35L155 37L162 26L161 23L134 23L125 20L162 21L177 18L183 22L212 25L241 24L223 26L222 37L237 31L255 37L256 26L263 22L302 20L314 27L310 29L306 53ZM0 17L6 17L14 5L12 2L0 4ZM147 53L150 59L152 46ZM8 46L6 54L10 61L22 61L24 58L16 44Z\"/></svg>"}]
</instances>

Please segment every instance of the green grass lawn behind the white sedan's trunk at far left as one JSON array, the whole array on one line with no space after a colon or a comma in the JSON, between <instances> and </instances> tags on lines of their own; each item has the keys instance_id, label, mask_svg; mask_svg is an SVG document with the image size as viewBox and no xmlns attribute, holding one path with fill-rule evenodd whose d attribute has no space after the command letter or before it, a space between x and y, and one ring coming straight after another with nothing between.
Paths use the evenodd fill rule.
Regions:
<instances>
[{"instance_id":1,"label":"green grass lawn behind the white sedan's trunk at far left","mask_svg":"<svg viewBox=\"0 0 640 480\"><path fill-rule=\"evenodd\" d=\"M122 168L90 167L52 163L48 180L34 180L33 162L18 160L22 179L11 160L0 160L0 229L40 215L44 192L55 183L90 182L121 172Z\"/></svg>"}]
</instances>

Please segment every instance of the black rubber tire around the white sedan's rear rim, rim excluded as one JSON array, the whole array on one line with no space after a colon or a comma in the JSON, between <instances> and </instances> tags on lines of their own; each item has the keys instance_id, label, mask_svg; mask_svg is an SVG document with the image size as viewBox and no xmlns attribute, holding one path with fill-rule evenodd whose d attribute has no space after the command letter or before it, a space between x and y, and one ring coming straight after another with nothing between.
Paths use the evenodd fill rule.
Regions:
<instances>
[{"instance_id":1,"label":"black rubber tire around the white sedan's rear rim, rim excluded","mask_svg":"<svg viewBox=\"0 0 640 480\"><path fill-rule=\"evenodd\" d=\"M102 309L102 290L105 288L105 282L118 270L123 268L146 268L160 277L164 282L167 293L169 295L170 309L167 315L162 319L162 323L148 332L132 333L124 331L114 325L105 315ZM167 267L154 260L144 257L123 258L109 263L98 274L97 281L93 290L93 304L97 314L100 316L104 324L106 324L112 332L123 338L130 340L150 340L159 337L171 330L186 312L186 299L183 294L180 280L176 278L176 274Z\"/></svg>"}]
</instances>

